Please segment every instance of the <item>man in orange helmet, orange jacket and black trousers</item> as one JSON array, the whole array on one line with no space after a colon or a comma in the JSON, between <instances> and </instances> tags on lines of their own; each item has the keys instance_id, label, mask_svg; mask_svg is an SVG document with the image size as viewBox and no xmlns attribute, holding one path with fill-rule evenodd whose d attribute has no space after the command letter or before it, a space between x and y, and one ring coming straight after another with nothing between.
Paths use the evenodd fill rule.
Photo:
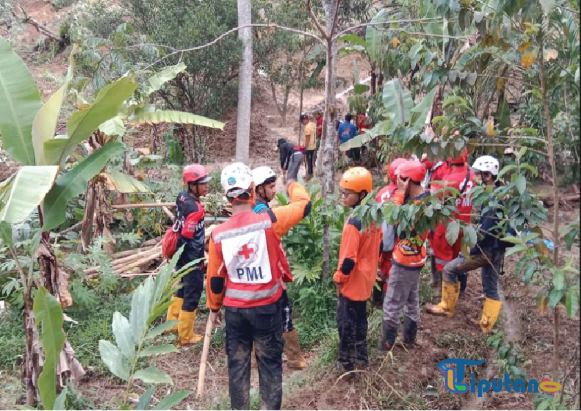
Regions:
<instances>
[{"instance_id":1,"label":"man in orange helmet, orange jacket and black trousers","mask_svg":"<svg viewBox=\"0 0 581 411\"><path fill-rule=\"evenodd\" d=\"M340 183L343 204L355 208L373 189L371 173L363 167L344 172ZM343 228L339 265L333 280L337 285L337 329L339 361L337 368L353 370L354 363L367 367L367 300L371 296L382 240L381 230L349 217Z\"/></svg>"}]
</instances>

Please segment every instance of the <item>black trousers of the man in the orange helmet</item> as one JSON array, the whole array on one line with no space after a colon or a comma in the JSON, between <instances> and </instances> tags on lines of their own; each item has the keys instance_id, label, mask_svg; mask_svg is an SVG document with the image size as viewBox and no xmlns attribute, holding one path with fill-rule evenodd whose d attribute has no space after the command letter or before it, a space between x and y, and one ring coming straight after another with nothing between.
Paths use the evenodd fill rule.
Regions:
<instances>
[{"instance_id":1,"label":"black trousers of the man in the orange helmet","mask_svg":"<svg viewBox=\"0 0 581 411\"><path fill-rule=\"evenodd\" d=\"M367 366L367 301L353 301L339 296L337 300L339 330L339 363L353 370L355 361Z\"/></svg>"}]
</instances>

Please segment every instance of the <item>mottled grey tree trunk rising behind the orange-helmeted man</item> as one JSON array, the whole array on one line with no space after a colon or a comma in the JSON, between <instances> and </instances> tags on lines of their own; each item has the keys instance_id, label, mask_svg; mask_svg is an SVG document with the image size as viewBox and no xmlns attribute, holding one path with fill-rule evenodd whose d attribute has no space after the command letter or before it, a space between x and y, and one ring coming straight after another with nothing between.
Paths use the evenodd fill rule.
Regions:
<instances>
[{"instance_id":1,"label":"mottled grey tree trunk rising behind the orange-helmeted man","mask_svg":"<svg viewBox=\"0 0 581 411\"><path fill-rule=\"evenodd\" d=\"M323 8L326 17L327 50L326 50L326 74L325 74L325 113L324 129L319 148L319 158L321 167L317 168L317 179L321 183L321 197L325 199L335 192L335 152L337 151L337 138L335 133L335 110L336 89L337 89L337 67L335 57L337 57L337 46L333 41L333 21L335 8L339 7L339 1L324 0ZM326 203L322 206L323 214L326 214ZM323 228L323 266L322 281L329 275L329 254L331 252L331 236L329 235L329 224L325 223Z\"/></svg>"}]
</instances>

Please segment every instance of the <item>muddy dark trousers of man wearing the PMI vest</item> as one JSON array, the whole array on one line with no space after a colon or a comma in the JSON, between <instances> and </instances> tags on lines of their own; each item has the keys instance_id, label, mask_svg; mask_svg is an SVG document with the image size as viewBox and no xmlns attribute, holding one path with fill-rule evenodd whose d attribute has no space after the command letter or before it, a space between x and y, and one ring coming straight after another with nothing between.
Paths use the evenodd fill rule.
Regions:
<instances>
[{"instance_id":1,"label":"muddy dark trousers of man wearing the PMI vest","mask_svg":"<svg viewBox=\"0 0 581 411\"><path fill-rule=\"evenodd\" d=\"M226 308L226 354L233 410L250 410L250 354L258 363L260 409L280 410L282 404L281 302L255 308Z\"/></svg>"}]
</instances>

